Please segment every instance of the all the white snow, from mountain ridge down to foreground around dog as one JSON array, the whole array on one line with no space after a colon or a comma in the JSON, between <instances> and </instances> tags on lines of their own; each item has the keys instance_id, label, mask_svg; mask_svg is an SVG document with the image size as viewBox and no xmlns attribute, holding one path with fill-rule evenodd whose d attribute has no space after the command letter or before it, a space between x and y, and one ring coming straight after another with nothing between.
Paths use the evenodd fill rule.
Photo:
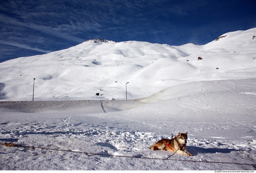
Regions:
<instances>
[{"instance_id":1,"label":"all the white snow, from mountain ridge down to foreground around dog","mask_svg":"<svg viewBox=\"0 0 256 173\"><path fill-rule=\"evenodd\" d=\"M0 170L255 170L254 35L88 40L0 63L0 143L37 147L1 145ZM186 131L192 157L149 148Z\"/></svg>"}]
</instances>

